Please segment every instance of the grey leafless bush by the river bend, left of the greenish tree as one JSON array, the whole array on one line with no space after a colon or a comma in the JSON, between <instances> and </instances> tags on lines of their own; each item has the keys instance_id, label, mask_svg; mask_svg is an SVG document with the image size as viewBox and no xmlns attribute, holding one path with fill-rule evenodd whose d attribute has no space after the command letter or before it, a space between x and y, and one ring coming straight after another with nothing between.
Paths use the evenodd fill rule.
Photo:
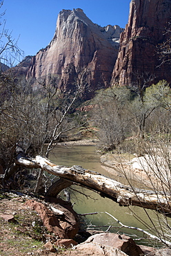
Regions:
<instances>
[{"instance_id":1,"label":"grey leafless bush by the river bend, left of the greenish tree","mask_svg":"<svg viewBox=\"0 0 171 256\"><path fill-rule=\"evenodd\" d=\"M101 90L94 99L92 119L103 149L112 150L121 143L128 131L125 105L130 91L126 88Z\"/></svg>"}]
</instances>

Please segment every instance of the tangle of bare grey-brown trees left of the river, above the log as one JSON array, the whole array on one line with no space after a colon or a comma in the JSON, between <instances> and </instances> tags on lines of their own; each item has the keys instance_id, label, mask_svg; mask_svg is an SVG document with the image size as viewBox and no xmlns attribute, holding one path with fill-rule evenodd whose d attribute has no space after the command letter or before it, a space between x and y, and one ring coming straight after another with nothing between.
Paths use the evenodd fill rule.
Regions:
<instances>
[{"instance_id":1,"label":"tangle of bare grey-brown trees left of the river, above the log","mask_svg":"<svg viewBox=\"0 0 171 256\"><path fill-rule=\"evenodd\" d=\"M16 172L17 167L14 164L16 146L22 148L27 155L39 154L48 157L63 134L83 125L83 120L74 118L73 114L70 118L70 109L78 95L79 89L70 95L70 98L68 95L66 98L61 98L57 84L56 86L40 84L36 91L28 90L28 84L17 82L16 86L12 86L8 100L2 104L3 111L0 115L2 149L5 149L4 143L6 143L6 149L8 147L11 153L11 157L8 158L11 159L10 163L6 159L6 165L3 166L6 170L3 181ZM63 106L61 101L64 103ZM42 176L43 171L40 170L36 192L42 182Z\"/></svg>"}]
</instances>

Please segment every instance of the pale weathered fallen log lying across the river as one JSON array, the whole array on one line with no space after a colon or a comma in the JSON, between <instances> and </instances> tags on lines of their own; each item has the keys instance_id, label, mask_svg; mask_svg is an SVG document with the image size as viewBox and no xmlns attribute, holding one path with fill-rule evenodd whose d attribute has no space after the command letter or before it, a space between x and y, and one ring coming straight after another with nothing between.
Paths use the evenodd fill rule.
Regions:
<instances>
[{"instance_id":1,"label":"pale weathered fallen log lying across the river","mask_svg":"<svg viewBox=\"0 0 171 256\"><path fill-rule=\"evenodd\" d=\"M119 205L137 205L167 214L171 213L170 195L162 194L162 192L154 192L152 190L130 188L128 185L123 185L97 172L85 170L78 165L72 167L55 165L47 158L41 156L36 156L35 158L18 156L16 164L28 168L41 168L50 174L64 179L60 180L60 182L62 181L61 183L65 183L66 180L66 186L72 183L81 185L84 188L98 192L103 197L108 197L116 201ZM64 185L65 188L66 186ZM56 184L56 188L57 192L59 192L63 186L61 185L61 188L58 188ZM57 192L55 192L54 186L53 194L56 195Z\"/></svg>"}]
</instances>

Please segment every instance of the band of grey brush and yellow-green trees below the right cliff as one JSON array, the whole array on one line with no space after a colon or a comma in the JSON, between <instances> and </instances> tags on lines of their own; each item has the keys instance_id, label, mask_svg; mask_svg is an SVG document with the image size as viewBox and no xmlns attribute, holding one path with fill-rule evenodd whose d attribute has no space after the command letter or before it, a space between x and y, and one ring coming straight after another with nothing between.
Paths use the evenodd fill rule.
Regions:
<instances>
[{"instance_id":1,"label":"band of grey brush and yellow-green trees below the right cliff","mask_svg":"<svg viewBox=\"0 0 171 256\"><path fill-rule=\"evenodd\" d=\"M152 138L168 134L171 120L171 90L163 80L139 88L114 87L94 98L92 119L102 148L112 150L125 138Z\"/></svg>"}]
</instances>

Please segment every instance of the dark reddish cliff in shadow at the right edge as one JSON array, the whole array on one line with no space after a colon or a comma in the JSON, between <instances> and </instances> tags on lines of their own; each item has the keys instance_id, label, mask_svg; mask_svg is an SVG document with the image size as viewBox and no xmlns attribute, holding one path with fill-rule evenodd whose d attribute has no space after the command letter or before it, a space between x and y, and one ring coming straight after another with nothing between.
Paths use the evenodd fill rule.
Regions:
<instances>
[{"instance_id":1,"label":"dark reddish cliff in shadow at the right edge","mask_svg":"<svg viewBox=\"0 0 171 256\"><path fill-rule=\"evenodd\" d=\"M154 75L152 82L171 82L170 64L161 64L157 46L171 16L170 0L132 0L128 24L123 33L111 84L136 84L137 77Z\"/></svg>"}]
</instances>

